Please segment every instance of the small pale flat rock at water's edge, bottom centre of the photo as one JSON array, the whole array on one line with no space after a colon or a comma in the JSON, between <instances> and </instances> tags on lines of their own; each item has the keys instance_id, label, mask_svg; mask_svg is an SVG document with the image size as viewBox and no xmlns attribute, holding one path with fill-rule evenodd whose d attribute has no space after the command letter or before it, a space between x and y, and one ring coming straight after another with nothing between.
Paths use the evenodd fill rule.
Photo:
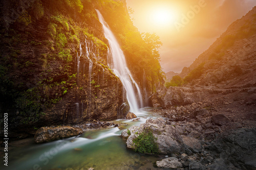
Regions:
<instances>
[{"instance_id":1,"label":"small pale flat rock at water's edge, bottom centre of the photo","mask_svg":"<svg viewBox=\"0 0 256 170\"><path fill-rule=\"evenodd\" d=\"M158 167L172 168L172 169L177 169L179 167L182 167L182 163L179 162L179 159L174 157L169 157L169 158L162 159L161 161L157 161L156 165Z\"/></svg>"}]
</instances>

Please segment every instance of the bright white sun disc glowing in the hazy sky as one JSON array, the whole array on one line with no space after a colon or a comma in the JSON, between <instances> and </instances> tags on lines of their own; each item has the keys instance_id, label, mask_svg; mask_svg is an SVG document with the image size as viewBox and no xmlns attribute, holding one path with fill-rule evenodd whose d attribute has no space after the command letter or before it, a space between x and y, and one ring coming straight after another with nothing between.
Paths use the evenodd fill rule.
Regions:
<instances>
[{"instance_id":1,"label":"bright white sun disc glowing in the hazy sky","mask_svg":"<svg viewBox=\"0 0 256 170\"><path fill-rule=\"evenodd\" d=\"M177 19L177 14L174 10L168 8L155 9L151 13L151 20L157 25L170 25Z\"/></svg>"}]
</instances>

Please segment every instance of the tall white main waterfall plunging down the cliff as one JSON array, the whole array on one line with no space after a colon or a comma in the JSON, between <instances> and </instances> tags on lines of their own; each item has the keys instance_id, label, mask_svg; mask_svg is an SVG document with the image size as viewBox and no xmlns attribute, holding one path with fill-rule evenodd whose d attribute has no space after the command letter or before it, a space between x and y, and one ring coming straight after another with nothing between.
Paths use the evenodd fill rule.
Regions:
<instances>
[{"instance_id":1,"label":"tall white main waterfall plunging down the cliff","mask_svg":"<svg viewBox=\"0 0 256 170\"><path fill-rule=\"evenodd\" d=\"M126 90L126 98L130 104L130 110L132 112L137 113L139 111L139 106L138 106L138 102L136 100L134 85L138 92L139 103L141 105L140 107L143 107L142 96L140 93L139 86L133 79L132 74L126 65L125 57L123 55L123 52L122 52L114 34L110 30L108 24L104 21L101 13L98 10L96 10L96 11L97 11L97 14L99 17L99 21L103 26L103 32L104 32L105 38L108 39L109 44L110 44L110 52L111 52L111 57L112 57L113 71L114 71L115 75L117 77L119 77L119 79L121 80L121 82Z\"/></svg>"}]
</instances>

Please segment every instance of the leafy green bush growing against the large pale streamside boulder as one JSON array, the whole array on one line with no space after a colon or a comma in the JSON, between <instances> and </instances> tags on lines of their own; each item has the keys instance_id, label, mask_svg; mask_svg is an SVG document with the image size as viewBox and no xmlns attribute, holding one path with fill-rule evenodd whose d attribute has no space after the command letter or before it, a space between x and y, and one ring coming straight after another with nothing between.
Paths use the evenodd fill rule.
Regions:
<instances>
[{"instance_id":1,"label":"leafy green bush growing against the large pale streamside boulder","mask_svg":"<svg viewBox=\"0 0 256 170\"><path fill-rule=\"evenodd\" d=\"M159 149L156 140L157 137L153 135L151 128L143 129L142 133L133 139L135 151L146 154L157 154Z\"/></svg>"}]
</instances>

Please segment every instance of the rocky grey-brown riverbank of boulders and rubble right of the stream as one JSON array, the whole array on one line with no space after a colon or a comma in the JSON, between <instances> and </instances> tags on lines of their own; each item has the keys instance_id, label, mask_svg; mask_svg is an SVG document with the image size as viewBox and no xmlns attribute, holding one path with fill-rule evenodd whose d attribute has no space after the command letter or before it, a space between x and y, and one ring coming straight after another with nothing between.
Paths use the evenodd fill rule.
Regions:
<instances>
[{"instance_id":1,"label":"rocky grey-brown riverbank of boulders and rubble right of the stream","mask_svg":"<svg viewBox=\"0 0 256 170\"><path fill-rule=\"evenodd\" d=\"M201 111L199 114L206 111ZM225 129L223 129L225 127ZM134 150L134 139L151 128L159 153L167 158L156 166L171 169L253 169L256 167L256 128L242 128L222 114L204 121L148 119L140 127L122 132L126 146ZM246 167L246 168L245 168Z\"/></svg>"}]
</instances>

